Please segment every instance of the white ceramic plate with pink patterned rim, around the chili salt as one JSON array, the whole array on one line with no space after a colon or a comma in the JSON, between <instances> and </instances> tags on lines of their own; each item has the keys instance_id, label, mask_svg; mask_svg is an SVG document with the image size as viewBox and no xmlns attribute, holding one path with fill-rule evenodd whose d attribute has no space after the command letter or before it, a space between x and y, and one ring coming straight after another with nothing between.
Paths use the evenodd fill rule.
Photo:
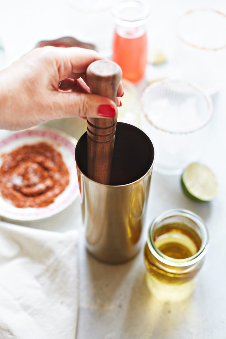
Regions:
<instances>
[{"instance_id":1,"label":"white ceramic plate with pink patterned rim, around the chili salt","mask_svg":"<svg viewBox=\"0 0 226 339\"><path fill-rule=\"evenodd\" d=\"M0 196L0 215L4 218L17 221L34 221L52 217L68 207L79 195L75 163L75 145L77 140L55 129L28 129L22 132L15 132L2 139L0 141L0 167L2 165L2 154L9 153L17 147L41 141L52 145L62 155L69 171L69 184L55 201L46 207L18 208Z\"/></svg>"}]
</instances>

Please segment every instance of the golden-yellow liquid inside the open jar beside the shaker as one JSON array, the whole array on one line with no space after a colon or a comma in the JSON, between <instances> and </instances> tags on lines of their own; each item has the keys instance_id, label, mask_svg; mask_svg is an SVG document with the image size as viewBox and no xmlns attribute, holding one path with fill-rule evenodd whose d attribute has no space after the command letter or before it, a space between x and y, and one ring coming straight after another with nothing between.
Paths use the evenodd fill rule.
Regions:
<instances>
[{"instance_id":1,"label":"golden-yellow liquid inside the open jar beside the shaker","mask_svg":"<svg viewBox=\"0 0 226 339\"><path fill-rule=\"evenodd\" d=\"M193 278L200 270L202 261L189 268L170 267L170 259L186 259L196 254L201 246L199 235L185 224L170 223L154 232L153 240L158 250L169 257L169 263L166 265L158 262L146 244L144 251L146 281L151 292L160 299L186 298L193 291Z\"/></svg>"}]
</instances>

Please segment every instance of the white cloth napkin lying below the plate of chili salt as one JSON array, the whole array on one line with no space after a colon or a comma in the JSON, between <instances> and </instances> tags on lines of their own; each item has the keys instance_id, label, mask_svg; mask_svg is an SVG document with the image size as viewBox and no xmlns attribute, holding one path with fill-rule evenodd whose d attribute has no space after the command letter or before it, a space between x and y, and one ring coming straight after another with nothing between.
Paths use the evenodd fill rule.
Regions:
<instances>
[{"instance_id":1,"label":"white cloth napkin lying below the plate of chili salt","mask_svg":"<svg viewBox=\"0 0 226 339\"><path fill-rule=\"evenodd\" d=\"M75 339L77 241L0 221L0 339Z\"/></svg>"}]
</instances>

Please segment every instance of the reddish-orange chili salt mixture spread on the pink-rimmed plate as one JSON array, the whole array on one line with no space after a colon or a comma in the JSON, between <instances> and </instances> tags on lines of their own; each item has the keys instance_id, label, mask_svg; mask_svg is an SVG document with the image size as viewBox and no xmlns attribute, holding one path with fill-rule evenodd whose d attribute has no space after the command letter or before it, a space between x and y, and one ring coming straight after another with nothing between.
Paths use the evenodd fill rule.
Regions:
<instances>
[{"instance_id":1,"label":"reddish-orange chili salt mixture spread on the pink-rimmed plate","mask_svg":"<svg viewBox=\"0 0 226 339\"><path fill-rule=\"evenodd\" d=\"M16 207L46 207L69 183L61 154L45 142L18 147L2 157L1 195Z\"/></svg>"}]
</instances>

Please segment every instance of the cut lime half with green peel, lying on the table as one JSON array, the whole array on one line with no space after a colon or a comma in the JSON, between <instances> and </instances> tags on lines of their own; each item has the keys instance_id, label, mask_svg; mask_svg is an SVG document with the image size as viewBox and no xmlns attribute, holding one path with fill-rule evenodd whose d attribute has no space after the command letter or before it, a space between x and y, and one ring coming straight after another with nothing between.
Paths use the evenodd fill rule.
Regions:
<instances>
[{"instance_id":1,"label":"cut lime half with green peel, lying on the table","mask_svg":"<svg viewBox=\"0 0 226 339\"><path fill-rule=\"evenodd\" d=\"M185 168L181 185L186 196L194 201L211 201L218 192L215 174L199 162L193 162Z\"/></svg>"}]
</instances>

